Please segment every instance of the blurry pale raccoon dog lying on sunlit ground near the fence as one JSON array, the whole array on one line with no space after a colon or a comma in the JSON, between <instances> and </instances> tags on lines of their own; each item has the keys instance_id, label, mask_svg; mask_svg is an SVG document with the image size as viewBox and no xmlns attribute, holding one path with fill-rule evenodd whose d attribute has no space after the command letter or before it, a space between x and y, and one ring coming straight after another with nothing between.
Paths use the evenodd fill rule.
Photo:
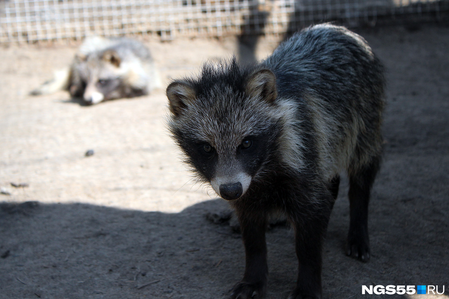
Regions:
<instances>
[{"instance_id":1,"label":"blurry pale raccoon dog lying on sunlit ground near the fence","mask_svg":"<svg viewBox=\"0 0 449 299\"><path fill-rule=\"evenodd\" d=\"M150 51L127 38L90 37L84 41L70 67L31 91L31 95L59 90L82 97L86 104L146 95L160 87Z\"/></svg>"}]
</instances>

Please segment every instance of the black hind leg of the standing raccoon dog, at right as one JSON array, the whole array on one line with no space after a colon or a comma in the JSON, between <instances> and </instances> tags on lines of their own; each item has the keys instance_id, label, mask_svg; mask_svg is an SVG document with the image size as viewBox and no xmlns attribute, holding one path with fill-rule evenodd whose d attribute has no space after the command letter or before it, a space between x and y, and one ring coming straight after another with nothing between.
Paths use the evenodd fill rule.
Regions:
<instances>
[{"instance_id":1,"label":"black hind leg of the standing raccoon dog, at right","mask_svg":"<svg viewBox=\"0 0 449 299\"><path fill-rule=\"evenodd\" d=\"M368 236L368 204L374 178L379 170L380 157L375 157L368 165L349 174L350 223L347 255L366 262L370 259L370 239Z\"/></svg>"}]
</instances>

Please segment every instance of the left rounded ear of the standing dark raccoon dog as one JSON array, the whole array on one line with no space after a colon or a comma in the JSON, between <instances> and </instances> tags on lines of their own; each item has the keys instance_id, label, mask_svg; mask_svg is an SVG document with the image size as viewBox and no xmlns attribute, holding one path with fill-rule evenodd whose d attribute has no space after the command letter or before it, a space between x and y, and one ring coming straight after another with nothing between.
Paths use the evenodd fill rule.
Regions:
<instances>
[{"instance_id":1,"label":"left rounded ear of the standing dark raccoon dog","mask_svg":"<svg viewBox=\"0 0 449 299\"><path fill-rule=\"evenodd\" d=\"M179 116L196 98L196 92L189 83L175 81L167 87L167 98L170 111Z\"/></svg>"}]
</instances>

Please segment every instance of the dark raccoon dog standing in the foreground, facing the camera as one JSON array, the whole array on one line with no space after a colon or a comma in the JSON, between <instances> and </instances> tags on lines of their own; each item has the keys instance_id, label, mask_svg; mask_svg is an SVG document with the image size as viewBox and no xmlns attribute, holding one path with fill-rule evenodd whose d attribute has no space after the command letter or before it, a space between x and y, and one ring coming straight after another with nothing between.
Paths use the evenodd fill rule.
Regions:
<instances>
[{"instance_id":1,"label":"dark raccoon dog standing in the foreground, facing the camera","mask_svg":"<svg viewBox=\"0 0 449 299\"><path fill-rule=\"evenodd\" d=\"M366 41L330 24L296 33L258 65L206 64L198 78L167 87L173 139L240 222L246 268L232 298L264 296L272 212L285 213L295 231L299 267L289 298L321 298L321 247L341 171L350 182L347 254L370 258L383 87Z\"/></svg>"}]
</instances>

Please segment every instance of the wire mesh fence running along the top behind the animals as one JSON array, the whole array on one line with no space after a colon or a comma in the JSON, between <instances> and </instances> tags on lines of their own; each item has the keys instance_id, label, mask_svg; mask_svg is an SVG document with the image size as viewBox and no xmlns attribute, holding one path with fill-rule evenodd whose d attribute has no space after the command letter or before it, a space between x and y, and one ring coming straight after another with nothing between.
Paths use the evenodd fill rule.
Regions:
<instances>
[{"instance_id":1,"label":"wire mesh fence running along the top behind the animals","mask_svg":"<svg viewBox=\"0 0 449 299\"><path fill-rule=\"evenodd\" d=\"M0 0L0 43L90 35L282 35L338 20L348 26L409 16L440 19L449 0Z\"/></svg>"}]
</instances>

